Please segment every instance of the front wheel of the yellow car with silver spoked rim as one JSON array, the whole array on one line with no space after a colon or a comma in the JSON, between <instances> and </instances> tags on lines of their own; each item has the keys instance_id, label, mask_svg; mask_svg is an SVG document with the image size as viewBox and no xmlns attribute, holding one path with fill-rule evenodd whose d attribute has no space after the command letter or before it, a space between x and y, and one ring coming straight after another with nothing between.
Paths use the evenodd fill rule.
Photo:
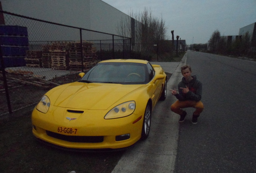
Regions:
<instances>
[{"instance_id":1,"label":"front wheel of the yellow car with silver spoked rim","mask_svg":"<svg viewBox=\"0 0 256 173\"><path fill-rule=\"evenodd\" d=\"M141 139L145 140L149 136L149 131L151 127L151 113L152 109L150 104L147 104L147 107L145 109L144 113L144 119L143 119L143 125L142 125L142 131L141 131Z\"/></svg>"}]
</instances>

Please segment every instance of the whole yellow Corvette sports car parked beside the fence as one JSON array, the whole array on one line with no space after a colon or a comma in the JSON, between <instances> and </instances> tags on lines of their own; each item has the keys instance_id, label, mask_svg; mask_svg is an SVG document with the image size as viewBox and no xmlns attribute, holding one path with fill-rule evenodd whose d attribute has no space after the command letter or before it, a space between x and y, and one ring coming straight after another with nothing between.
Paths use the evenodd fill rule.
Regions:
<instances>
[{"instance_id":1,"label":"whole yellow Corvette sports car parked beside the fence","mask_svg":"<svg viewBox=\"0 0 256 173\"><path fill-rule=\"evenodd\" d=\"M146 139L165 100L163 68L146 60L99 62L81 80L48 91L32 113L33 135L62 149L124 149Z\"/></svg>"}]
</instances>

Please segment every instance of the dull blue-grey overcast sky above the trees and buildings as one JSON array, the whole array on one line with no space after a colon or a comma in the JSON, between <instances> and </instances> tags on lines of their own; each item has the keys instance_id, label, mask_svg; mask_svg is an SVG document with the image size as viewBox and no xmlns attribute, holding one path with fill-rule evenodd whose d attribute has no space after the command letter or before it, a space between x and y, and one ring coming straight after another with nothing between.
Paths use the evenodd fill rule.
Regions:
<instances>
[{"instance_id":1,"label":"dull blue-grey overcast sky above the trees and buildings","mask_svg":"<svg viewBox=\"0 0 256 173\"><path fill-rule=\"evenodd\" d=\"M125 14L152 11L163 18L167 36L180 36L187 44L207 43L219 30L221 36L238 35L239 28L256 22L256 0L102 0ZM194 38L193 38L194 37Z\"/></svg>"}]
</instances>

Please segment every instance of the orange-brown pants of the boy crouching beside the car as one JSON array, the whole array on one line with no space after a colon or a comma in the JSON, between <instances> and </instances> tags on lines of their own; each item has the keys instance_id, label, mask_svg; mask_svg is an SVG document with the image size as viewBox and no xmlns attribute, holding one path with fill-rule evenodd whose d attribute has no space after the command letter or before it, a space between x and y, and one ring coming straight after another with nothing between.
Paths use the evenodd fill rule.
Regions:
<instances>
[{"instance_id":1,"label":"orange-brown pants of the boy crouching beside the car","mask_svg":"<svg viewBox=\"0 0 256 173\"><path fill-rule=\"evenodd\" d=\"M171 105L171 111L182 115L183 110L182 108L188 108L188 107L193 107L196 109L196 111L194 111L193 115L199 116L200 113L203 111L204 109L204 105L201 101L175 101L175 103L173 103Z\"/></svg>"}]
</instances>

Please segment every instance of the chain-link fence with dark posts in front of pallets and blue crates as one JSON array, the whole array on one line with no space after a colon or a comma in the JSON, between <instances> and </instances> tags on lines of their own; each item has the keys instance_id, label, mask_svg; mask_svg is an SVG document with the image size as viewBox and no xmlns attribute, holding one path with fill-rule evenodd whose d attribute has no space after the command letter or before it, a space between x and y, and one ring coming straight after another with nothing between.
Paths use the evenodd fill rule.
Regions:
<instances>
[{"instance_id":1,"label":"chain-link fence with dark posts in front of pallets and blue crates","mask_svg":"<svg viewBox=\"0 0 256 173\"><path fill-rule=\"evenodd\" d=\"M101 60L130 58L130 38L0 14L0 115L34 105Z\"/></svg>"}]
</instances>

